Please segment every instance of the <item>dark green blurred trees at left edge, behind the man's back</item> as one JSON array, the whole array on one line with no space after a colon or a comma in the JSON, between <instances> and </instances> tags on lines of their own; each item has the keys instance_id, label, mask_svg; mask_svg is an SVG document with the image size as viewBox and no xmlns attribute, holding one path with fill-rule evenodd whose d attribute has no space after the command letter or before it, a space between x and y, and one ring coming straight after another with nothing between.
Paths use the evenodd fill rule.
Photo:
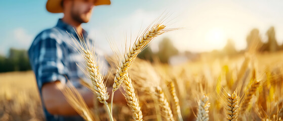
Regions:
<instances>
[{"instance_id":1,"label":"dark green blurred trees at left edge, behind the man's back","mask_svg":"<svg viewBox=\"0 0 283 121\"><path fill-rule=\"evenodd\" d=\"M31 70L27 51L10 48L8 57L0 55L0 72Z\"/></svg>"}]
</instances>

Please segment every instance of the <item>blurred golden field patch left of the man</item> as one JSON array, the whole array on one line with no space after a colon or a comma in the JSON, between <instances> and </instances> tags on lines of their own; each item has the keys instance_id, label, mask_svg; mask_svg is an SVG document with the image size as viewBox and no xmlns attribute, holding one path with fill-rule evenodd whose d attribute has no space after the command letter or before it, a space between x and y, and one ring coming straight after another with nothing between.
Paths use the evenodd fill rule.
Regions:
<instances>
[{"instance_id":1,"label":"blurred golden field patch left of the man","mask_svg":"<svg viewBox=\"0 0 283 121\"><path fill-rule=\"evenodd\" d=\"M44 120L32 71L0 73L0 120Z\"/></svg>"}]
</instances>

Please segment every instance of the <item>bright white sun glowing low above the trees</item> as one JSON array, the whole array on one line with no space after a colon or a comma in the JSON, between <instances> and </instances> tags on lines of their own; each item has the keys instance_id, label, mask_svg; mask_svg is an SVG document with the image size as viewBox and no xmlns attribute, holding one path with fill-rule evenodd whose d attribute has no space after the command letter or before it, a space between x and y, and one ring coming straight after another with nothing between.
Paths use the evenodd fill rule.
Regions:
<instances>
[{"instance_id":1,"label":"bright white sun glowing low above the trees","mask_svg":"<svg viewBox=\"0 0 283 121\"><path fill-rule=\"evenodd\" d=\"M220 28L212 28L206 33L206 44L210 45L210 48L220 49L226 44L224 31Z\"/></svg>"}]
</instances>

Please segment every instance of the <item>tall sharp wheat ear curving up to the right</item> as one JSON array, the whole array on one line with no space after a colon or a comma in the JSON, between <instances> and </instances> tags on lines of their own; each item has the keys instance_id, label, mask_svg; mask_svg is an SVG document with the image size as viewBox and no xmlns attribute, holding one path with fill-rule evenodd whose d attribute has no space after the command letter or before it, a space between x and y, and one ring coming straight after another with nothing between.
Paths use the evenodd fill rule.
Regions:
<instances>
[{"instance_id":1,"label":"tall sharp wheat ear curving up to the right","mask_svg":"<svg viewBox=\"0 0 283 121\"><path fill-rule=\"evenodd\" d=\"M137 57L138 53L140 53L141 50L144 49L146 45L156 36L163 34L165 32L164 28L165 25L156 24L151 29L145 31L144 34L136 40L135 44L132 46L129 52L126 53L125 57L123 57L123 59L120 61L114 78L112 92L115 92L120 87L125 78L125 75L128 73L132 62Z\"/></svg>"}]
</instances>

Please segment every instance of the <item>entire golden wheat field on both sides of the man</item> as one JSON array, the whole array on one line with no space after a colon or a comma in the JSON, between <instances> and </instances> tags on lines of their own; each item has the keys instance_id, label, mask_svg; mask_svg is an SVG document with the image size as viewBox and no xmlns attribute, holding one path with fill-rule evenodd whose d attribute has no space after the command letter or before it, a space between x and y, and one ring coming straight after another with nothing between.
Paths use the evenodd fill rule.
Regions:
<instances>
[{"instance_id":1,"label":"entire golden wheat field on both sides of the man","mask_svg":"<svg viewBox=\"0 0 283 121\"><path fill-rule=\"evenodd\" d=\"M199 61L175 66L150 64L137 59L129 76L138 96L142 119L282 119L283 52L254 54L241 74L239 71L243 70L245 58L245 55L202 57ZM242 75L241 79L237 78L239 75ZM108 83L108 86L113 84ZM175 96L171 94L171 84L175 85ZM159 87L158 93L150 91L152 85ZM160 89L164 95L156 100L154 95L158 95ZM91 108L91 111L97 112L96 120L109 119L103 106ZM163 117L165 113L169 117ZM126 104L114 103L112 115L114 120L133 120L131 109ZM44 120L33 72L0 74L0 120Z\"/></svg>"}]
</instances>

